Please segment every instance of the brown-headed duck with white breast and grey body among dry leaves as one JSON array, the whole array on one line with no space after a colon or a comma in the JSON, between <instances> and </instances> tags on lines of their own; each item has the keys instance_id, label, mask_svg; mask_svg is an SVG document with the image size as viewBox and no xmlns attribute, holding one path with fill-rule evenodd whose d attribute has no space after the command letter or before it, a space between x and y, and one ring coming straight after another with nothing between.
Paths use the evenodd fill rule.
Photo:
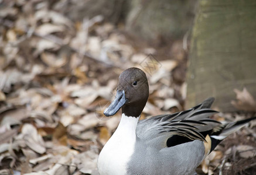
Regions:
<instances>
[{"instance_id":1,"label":"brown-headed duck with white breast and grey body among dry leaves","mask_svg":"<svg viewBox=\"0 0 256 175\"><path fill-rule=\"evenodd\" d=\"M98 157L101 175L194 174L224 138L255 119L230 124L211 120L218 112L210 109L214 99L209 98L186 111L139 121L148 96L148 80L141 69L122 72L117 95L104 111L111 116L122 108L122 118Z\"/></svg>"}]
</instances>

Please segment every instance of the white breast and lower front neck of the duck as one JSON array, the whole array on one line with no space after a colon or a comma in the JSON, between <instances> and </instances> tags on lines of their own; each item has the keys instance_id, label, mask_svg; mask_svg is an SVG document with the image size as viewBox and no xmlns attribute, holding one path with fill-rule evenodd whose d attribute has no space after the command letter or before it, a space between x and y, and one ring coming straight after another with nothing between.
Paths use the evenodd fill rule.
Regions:
<instances>
[{"instance_id":1,"label":"white breast and lower front neck of the duck","mask_svg":"<svg viewBox=\"0 0 256 175\"><path fill-rule=\"evenodd\" d=\"M138 120L139 117L122 114L117 130L98 157L98 171L101 175L127 174L127 162L134 153Z\"/></svg>"}]
</instances>

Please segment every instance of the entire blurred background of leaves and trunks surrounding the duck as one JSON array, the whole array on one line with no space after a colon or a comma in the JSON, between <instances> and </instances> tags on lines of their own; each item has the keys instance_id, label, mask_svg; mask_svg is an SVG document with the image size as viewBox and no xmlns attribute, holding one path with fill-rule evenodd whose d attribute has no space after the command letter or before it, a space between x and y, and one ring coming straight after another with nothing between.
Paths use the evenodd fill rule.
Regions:
<instances>
[{"instance_id":1,"label":"entire blurred background of leaves and trunks surrounding the duck","mask_svg":"<svg viewBox=\"0 0 256 175\"><path fill-rule=\"evenodd\" d=\"M141 68L141 118L216 97L218 121L256 111L256 2L0 0L0 174L97 174L121 113L118 76ZM255 174L256 122L199 174Z\"/></svg>"}]
</instances>

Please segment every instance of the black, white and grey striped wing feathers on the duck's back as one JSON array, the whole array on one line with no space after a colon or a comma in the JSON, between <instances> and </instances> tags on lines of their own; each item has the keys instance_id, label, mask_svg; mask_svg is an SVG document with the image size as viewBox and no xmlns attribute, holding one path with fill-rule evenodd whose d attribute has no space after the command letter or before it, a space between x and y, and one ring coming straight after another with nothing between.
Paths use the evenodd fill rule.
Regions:
<instances>
[{"instance_id":1,"label":"black, white and grey striped wing feathers on the duck's back","mask_svg":"<svg viewBox=\"0 0 256 175\"><path fill-rule=\"evenodd\" d=\"M218 113L209 107L214 99L209 98L189 110L174 114L157 115L146 120L141 120L137 127L137 136L145 141L156 142L157 139L165 141L163 147L176 145L178 143L193 141L199 139L206 141L205 137L214 127L220 125L220 122L211 120L209 117ZM205 108L207 107L207 108ZM165 139L163 139L165 138ZM182 141L180 141L182 139ZM172 141L173 140L173 141Z\"/></svg>"}]
</instances>

